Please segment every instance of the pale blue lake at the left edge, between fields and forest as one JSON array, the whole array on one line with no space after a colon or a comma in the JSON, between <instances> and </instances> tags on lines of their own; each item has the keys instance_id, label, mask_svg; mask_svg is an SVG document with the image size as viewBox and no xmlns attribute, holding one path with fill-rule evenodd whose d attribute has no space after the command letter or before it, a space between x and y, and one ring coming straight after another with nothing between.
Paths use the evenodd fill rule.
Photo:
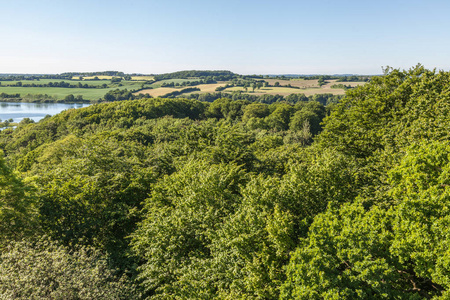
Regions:
<instances>
[{"instance_id":1,"label":"pale blue lake at the left edge, between fields and forest","mask_svg":"<svg viewBox=\"0 0 450 300\"><path fill-rule=\"evenodd\" d=\"M30 118L38 122L46 115L53 116L69 108L82 108L89 105L84 103L0 102L0 119L2 121L13 119L13 122L20 122L24 118Z\"/></svg>"}]
</instances>

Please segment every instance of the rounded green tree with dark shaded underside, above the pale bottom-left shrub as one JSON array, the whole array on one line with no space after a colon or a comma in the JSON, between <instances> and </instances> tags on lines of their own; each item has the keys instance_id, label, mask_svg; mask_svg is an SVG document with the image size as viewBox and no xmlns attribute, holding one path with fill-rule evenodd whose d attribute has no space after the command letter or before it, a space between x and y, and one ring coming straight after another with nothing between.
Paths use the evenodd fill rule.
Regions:
<instances>
[{"instance_id":1,"label":"rounded green tree with dark shaded underside, above the pale bottom-left shrub","mask_svg":"<svg viewBox=\"0 0 450 300\"><path fill-rule=\"evenodd\" d=\"M107 251L114 263L128 263L128 241L141 202L154 181L151 167L133 143L74 136L39 149L31 168L38 187L41 224L65 245Z\"/></svg>"}]
</instances>

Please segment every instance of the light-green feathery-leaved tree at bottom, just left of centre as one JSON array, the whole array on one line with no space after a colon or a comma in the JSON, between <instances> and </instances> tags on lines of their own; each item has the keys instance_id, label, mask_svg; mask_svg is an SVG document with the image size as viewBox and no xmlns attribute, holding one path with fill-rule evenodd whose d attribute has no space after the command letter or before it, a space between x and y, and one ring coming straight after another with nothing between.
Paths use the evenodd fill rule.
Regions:
<instances>
[{"instance_id":1,"label":"light-green feathery-leaved tree at bottom, just left of centre","mask_svg":"<svg viewBox=\"0 0 450 300\"><path fill-rule=\"evenodd\" d=\"M155 298L186 297L191 288L185 279L210 258L211 236L237 208L244 181L244 173L233 164L190 161L154 187L133 246L145 261L142 285ZM214 287L203 288L196 290L197 298Z\"/></svg>"}]
</instances>

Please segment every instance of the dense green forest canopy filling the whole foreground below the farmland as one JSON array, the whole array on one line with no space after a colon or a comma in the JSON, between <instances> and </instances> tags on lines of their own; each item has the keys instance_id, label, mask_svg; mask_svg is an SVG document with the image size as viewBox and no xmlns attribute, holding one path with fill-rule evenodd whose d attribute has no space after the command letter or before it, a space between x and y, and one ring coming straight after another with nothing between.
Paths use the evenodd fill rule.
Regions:
<instances>
[{"instance_id":1,"label":"dense green forest canopy filling the whole foreground below the farmland","mask_svg":"<svg viewBox=\"0 0 450 300\"><path fill-rule=\"evenodd\" d=\"M0 291L446 299L449 86L417 66L327 107L139 99L3 130Z\"/></svg>"}]
</instances>

